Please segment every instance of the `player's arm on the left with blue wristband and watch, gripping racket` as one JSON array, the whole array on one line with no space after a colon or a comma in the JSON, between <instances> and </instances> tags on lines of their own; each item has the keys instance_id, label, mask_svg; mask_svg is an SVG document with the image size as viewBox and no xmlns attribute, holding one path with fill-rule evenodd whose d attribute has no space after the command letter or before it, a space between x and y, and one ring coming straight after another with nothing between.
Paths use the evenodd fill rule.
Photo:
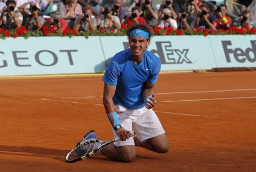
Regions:
<instances>
[{"instance_id":1,"label":"player's arm on the left with blue wristband and watch, gripping racket","mask_svg":"<svg viewBox=\"0 0 256 172\"><path fill-rule=\"evenodd\" d=\"M119 136L121 141L125 141L129 137L133 136L132 133L128 130L125 130L122 128L118 118L116 117L116 112L115 112L115 106L113 102L113 96L116 91L116 86L111 86L108 84L104 84L104 89L103 89L103 105L105 108L105 111L107 113L108 119L115 129L116 134ZM117 127L117 125L119 125Z\"/></svg>"}]
</instances>

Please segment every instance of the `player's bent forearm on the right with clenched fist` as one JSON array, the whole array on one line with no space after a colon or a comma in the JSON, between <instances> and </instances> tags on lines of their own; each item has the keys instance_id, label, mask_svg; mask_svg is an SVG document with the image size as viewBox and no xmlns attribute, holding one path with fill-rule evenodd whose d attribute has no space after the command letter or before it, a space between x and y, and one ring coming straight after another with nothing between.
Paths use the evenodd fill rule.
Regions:
<instances>
[{"instance_id":1,"label":"player's bent forearm on the right with clenched fist","mask_svg":"<svg viewBox=\"0 0 256 172\"><path fill-rule=\"evenodd\" d=\"M143 99L145 100L145 107L151 109L156 105L156 92L155 84L151 84L148 81L143 85Z\"/></svg>"}]
</instances>

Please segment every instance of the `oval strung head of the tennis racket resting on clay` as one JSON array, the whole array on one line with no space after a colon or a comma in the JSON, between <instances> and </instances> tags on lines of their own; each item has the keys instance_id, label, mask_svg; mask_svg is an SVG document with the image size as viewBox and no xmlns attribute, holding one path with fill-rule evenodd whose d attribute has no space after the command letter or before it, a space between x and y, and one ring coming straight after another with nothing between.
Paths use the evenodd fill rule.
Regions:
<instances>
[{"instance_id":1,"label":"oval strung head of the tennis racket resting on clay","mask_svg":"<svg viewBox=\"0 0 256 172\"><path fill-rule=\"evenodd\" d=\"M66 161L67 162L77 162L77 161L81 161L85 158L91 157L94 153L91 149L93 148L93 144L97 143L97 142L101 143L101 141L94 139L94 140L90 140L90 141L87 141L87 142L77 145L74 149L69 151L69 153L66 156ZM95 150L97 150L97 149L95 149Z\"/></svg>"}]
</instances>

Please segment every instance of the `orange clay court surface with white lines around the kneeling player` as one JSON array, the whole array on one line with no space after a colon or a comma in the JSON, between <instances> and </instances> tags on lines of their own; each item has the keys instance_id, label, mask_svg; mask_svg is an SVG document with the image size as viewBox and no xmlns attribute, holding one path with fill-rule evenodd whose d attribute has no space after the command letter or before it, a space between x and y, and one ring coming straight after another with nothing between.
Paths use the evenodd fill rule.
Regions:
<instances>
[{"instance_id":1,"label":"orange clay court surface with white lines around the kneeling player","mask_svg":"<svg viewBox=\"0 0 256 172\"><path fill-rule=\"evenodd\" d=\"M0 79L0 171L255 171L256 72L161 74L154 108L170 151L137 148L131 163L101 155L67 163L94 129L112 138L102 76Z\"/></svg>"}]
</instances>

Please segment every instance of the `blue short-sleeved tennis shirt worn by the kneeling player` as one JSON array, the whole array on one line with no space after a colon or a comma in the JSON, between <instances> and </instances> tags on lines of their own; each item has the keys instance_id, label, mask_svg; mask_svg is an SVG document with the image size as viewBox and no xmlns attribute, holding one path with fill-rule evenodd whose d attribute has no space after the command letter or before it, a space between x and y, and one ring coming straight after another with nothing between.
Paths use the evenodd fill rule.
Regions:
<instances>
[{"instance_id":1,"label":"blue short-sleeved tennis shirt worn by the kneeling player","mask_svg":"<svg viewBox=\"0 0 256 172\"><path fill-rule=\"evenodd\" d=\"M116 86L115 104L140 109L145 106L142 86L146 81L156 83L160 69L161 61L155 54L145 51L141 62L134 64L130 49L126 49L114 55L102 80Z\"/></svg>"}]
</instances>

